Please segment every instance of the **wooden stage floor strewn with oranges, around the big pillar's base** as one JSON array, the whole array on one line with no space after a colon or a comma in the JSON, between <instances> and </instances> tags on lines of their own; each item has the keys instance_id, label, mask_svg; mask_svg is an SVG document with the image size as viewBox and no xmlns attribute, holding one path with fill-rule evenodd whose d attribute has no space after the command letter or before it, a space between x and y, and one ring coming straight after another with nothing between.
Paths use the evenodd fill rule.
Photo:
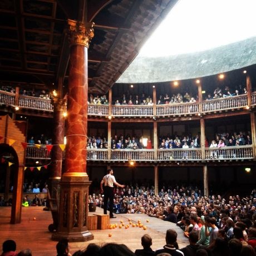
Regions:
<instances>
[{"instance_id":1,"label":"wooden stage floor strewn with oranges, around the big pillar's base","mask_svg":"<svg viewBox=\"0 0 256 256\"><path fill-rule=\"evenodd\" d=\"M97 208L99 213L103 213L103 209ZM147 229L130 227L125 229L122 227L106 230L92 230L94 240L88 242L77 242L70 244L70 253L73 254L77 250L86 249L89 243L99 245L105 243L125 244L133 252L136 249L142 249L141 237L144 234L149 234L152 238L152 249L163 247L165 245L165 233L169 228L173 228L178 233L178 244L180 248L188 244L188 239L183 236L183 231L175 224L161 219L149 217L144 214L116 214L116 219L110 219L110 223L120 224L123 220L128 224L130 218L132 222L141 220L141 223L146 225ZM36 218L35 220L34 217ZM0 207L0 247L4 240L13 239L17 243L17 252L21 249L29 248L32 250L32 255L56 255L56 241L51 240L51 235L48 231L48 225L52 223L51 211L43 211L43 207L22 208L22 222L19 224L10 224L11 207ZM146 220L149 220L149 223ZM109 233L112 237L109 237ZM1 253L0 253L1 254Z\"/></svg>"}]
</instances>

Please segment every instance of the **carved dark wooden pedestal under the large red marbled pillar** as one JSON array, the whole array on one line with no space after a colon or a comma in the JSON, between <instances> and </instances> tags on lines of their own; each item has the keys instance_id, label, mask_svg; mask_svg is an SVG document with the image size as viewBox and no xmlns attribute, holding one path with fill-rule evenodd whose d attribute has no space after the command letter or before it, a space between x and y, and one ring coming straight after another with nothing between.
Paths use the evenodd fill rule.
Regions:
<instances>
[{"instance_id":1,"label":"carved dark wooden pedestal under the large red marbled pillar","mask_svg":"<svg viewBox=\"0 0 256 256\"><path fill-rule=\"evenodd\" d=\"M65 173L62 176L58 229L52 235L53 240L83 242L94 239L87 228L90 184L86 173Z\"/></svg>"}]
</instances>

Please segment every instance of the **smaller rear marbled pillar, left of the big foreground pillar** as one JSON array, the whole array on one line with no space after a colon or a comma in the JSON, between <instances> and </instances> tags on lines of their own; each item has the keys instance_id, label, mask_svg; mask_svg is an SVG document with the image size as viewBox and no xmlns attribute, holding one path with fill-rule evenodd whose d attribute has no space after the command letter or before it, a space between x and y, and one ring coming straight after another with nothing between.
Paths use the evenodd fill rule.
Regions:
<instances>
[{"instance_id":1,"label":"smaller rear marbled pillar, left of the big foreground pillar","mask_svg":"<svg viewBox=\"0 0 256 256\"><path fill-rule=\"evenodd\" d=\"M61 170L62 170L62 150L60 146L64 142L64 117L66 100L53 98L53 137L51 151L51 177L50 191L51 197L55 198L56 190L60 190Z\"/></svg>"}]
</instances>

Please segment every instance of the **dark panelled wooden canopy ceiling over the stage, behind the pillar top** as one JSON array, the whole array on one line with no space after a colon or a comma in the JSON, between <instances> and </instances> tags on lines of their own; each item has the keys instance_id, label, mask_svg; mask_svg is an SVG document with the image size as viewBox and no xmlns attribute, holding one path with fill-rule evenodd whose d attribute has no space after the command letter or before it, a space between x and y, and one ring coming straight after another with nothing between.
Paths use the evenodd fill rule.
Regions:
<instances>
[{"instance_id":1,"label":"dark panelled wooden canopy ceiling over the stage, behind the pillar top","mask_svg":"<svg viewBox=\"0 0 256 256\"><path fill-rule=\"evenodd\" d=\"M177 1L1 0L0 82L65 90L67 18L78 19L84 4L87 21L95 23L88 49L88 91L105 93Z\"/></svg>"}]
</instances>

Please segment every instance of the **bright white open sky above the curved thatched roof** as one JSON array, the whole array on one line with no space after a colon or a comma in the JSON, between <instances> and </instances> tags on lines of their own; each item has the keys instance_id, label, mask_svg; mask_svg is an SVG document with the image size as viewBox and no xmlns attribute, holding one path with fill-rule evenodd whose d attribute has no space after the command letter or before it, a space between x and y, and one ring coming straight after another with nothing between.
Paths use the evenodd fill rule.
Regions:
<instances>
[{"instance_id":1,"label":"bright white open sky above the curved thatched roof","mask_svg":"<svg viewBox=\"0 0 256 256\"><path fill-rule=\"evenodd\" d=\"M255 10L256 0L179 0L139 56L199 52L254 37Z\"/></svg>"}]
</instances>

